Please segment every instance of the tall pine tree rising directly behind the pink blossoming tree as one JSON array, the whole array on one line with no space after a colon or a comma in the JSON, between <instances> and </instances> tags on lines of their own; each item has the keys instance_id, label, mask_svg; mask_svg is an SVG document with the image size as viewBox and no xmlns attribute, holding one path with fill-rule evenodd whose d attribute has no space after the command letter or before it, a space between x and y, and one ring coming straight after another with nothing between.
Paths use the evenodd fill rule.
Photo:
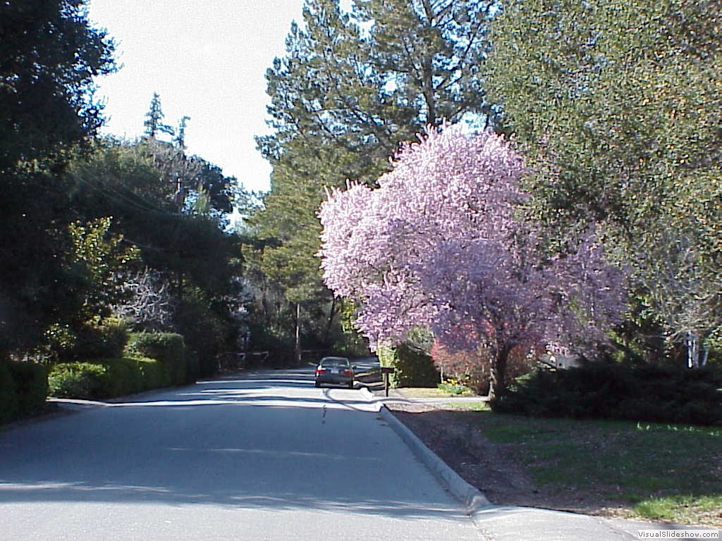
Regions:
<instances>
[{"instance_id":1,"label":"tall pine tree rising directly behind the pink blossoming tree","mask_svg":"<svg viewBox=\"0 0 722 541\"><path fill-rule=\"evenodd\" d=\"M267 71L269 125L258 138L273 166L271 192L253 218L269 242L261 268L291 304L326 303L318 271L316 210L324 187L373 184L401 141L427 123L485 125L479 66L492 2L308 0L287 54Z\"/></svg>"}]
</instances>

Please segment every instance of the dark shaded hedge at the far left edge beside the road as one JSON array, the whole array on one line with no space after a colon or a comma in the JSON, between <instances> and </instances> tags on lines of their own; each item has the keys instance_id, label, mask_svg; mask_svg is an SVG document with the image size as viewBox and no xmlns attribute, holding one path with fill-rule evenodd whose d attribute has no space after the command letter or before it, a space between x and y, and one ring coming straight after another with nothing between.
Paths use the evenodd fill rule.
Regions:
<instances>
[{"instance_id":1,"label":"dark shaded hedge at the far left edge beside the road","mask_svg":"<svg viewBox=\"0 0 722 541\"><path fill-rule=\"evenodd\" d=\"M0 423L38 413L48 397L45 366L0 362Z\"/></svg>"}]
</instances>

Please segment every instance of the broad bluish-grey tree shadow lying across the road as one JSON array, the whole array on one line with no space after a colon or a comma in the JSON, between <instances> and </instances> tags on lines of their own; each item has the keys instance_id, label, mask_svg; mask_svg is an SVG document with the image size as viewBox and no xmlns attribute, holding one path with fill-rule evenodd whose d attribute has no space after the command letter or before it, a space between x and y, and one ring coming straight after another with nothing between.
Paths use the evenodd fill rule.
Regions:
<instances>
[{"instance_id":1,"label":"broad bluish-grey tree shadow lying across the road","mask_svg":"<svg viewBox=\"0 0 722 541\"><path fill-rule=\"evenodd\" d=\"M199 382L0 434L4 503L313 509L414 519L461 511L360 392L311 369Z\"/></svg>"}]
</instances>

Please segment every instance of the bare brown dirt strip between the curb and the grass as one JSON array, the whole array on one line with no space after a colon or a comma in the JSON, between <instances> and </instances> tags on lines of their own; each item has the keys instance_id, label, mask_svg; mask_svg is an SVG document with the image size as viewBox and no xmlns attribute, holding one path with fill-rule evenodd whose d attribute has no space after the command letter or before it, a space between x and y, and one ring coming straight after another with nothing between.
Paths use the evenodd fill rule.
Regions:
<instances>
[{"instance_id":1,"label":"bare brown dirt strip between the curb and the grass","mask_svg":"<svg viewBox=\"0 0 722 541\"><path fill-rule=\"evenodd\" d=\"M628 516L622 502L590 491L553 491L534 485L508 444L491 443L473 426L474 413L452 415L432 405L390 404L389 409L429 449L489 501L598 516Z\"/></svg>"}]
</instances>

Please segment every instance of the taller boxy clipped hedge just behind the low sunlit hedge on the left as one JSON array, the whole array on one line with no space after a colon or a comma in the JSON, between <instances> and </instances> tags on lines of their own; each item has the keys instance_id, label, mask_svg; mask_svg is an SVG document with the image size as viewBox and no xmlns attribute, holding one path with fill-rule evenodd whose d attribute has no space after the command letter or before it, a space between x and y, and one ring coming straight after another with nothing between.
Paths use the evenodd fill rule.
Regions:
<instances>
[{"instance_id":1,"label":"taller boxy clipped hedge just behind the low sunlit hedge on the left","mask_svg":"<svg viewBox=\"0 0 722 541\"><path fill-rule=\"evenodd\" d=\"M186 344L183 336L175 333L131 333L125 350L126 356L157 359L170 375L170 384L188 382L186 375Z\"/></svg>"}]
</instances>

